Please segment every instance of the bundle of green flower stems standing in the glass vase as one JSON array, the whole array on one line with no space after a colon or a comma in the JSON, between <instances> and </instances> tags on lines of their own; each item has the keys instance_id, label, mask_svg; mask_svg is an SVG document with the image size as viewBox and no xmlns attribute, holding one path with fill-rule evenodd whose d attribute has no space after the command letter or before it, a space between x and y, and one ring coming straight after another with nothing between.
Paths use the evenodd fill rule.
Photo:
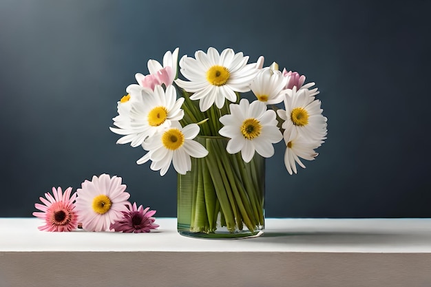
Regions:
<instances>
[{"instance_id":1,"label":"bundle of green flower stems standing in the glass vase","mask_svg":"<svg viewBox=\"0 0 431 287\"><path fill-rule=\"evenodd\" d=\"M222 109L213 105L202 112L189 94L182 94L182 125L199 123L200 136L195 140L209 153L205 158L191 158L191 171L178 174L178 223L186 222L193 233L214 233L220 227L229 233L242 231L244 226L250 232L263 228L264 158L255 153L250 162L244 162L240 153L226 151L229 138L218 134L222 127L218 119L229 114L228 103Z\"/></svg>"}]
</instances>

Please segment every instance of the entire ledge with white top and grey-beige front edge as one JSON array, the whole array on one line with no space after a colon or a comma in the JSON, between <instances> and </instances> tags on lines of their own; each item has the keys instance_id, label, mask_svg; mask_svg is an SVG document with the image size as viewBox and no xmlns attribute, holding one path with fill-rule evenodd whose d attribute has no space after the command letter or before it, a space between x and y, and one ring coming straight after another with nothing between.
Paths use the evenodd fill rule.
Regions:
<instances>
[{"instance_id":1,"label":"entire ledge with white top and grey-beige front edge","mask_svg":"<svg viewBox=\"0 0 431 287\"><path fill-rule=\"evenodd\" d=\"M428 287L431 220L268 219L262 237L48 233L0 218L0 287Z\"/></svg>"}]
</instances>

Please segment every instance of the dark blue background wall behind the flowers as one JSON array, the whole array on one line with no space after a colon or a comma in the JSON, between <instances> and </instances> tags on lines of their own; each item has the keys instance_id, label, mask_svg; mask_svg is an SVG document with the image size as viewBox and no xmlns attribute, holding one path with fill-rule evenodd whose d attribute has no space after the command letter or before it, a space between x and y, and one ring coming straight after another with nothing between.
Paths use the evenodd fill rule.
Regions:
<instances>
[{"instance_id":1,"label":"dark blue background wall behind the flowers","mask_svg":"<svg viewBox=\"0 0 431 287\"><path fill-rule=\"evenodd\" d=\"M147 60L231 47L317 83L328 140L289 176L267 163L270 217L431 217L430 1L0 1L0 216L52 186L123 178L176 216L176 173L116 145L116 102Z\"/></svg>"}]
</instances>

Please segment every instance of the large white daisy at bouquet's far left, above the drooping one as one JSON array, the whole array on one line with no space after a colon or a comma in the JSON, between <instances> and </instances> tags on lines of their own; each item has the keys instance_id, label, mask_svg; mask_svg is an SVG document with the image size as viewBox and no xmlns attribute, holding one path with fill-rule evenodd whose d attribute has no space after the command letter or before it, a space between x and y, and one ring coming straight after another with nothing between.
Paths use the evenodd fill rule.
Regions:
<instances>
[{"instance_id":1,"label":"large white daisy at bouquet's far left, above the drooping one","mask_svg":"<svg viewBox=\"0 0 431 287\"><path fill-rule=\"evenodd\" d=\"M120 119L125 123L118 129L109 128L116 134L124 135L117 141L119 144L131 142L132 147L142 145L147 137L169 127L171 121L181 120L184 116L181 109L184 98L176 100L174 86L169 85L165 91L157 85L154 91L144 89L143 93L143 96L138 96L131 103L128 112L125 109L125 115L120 114ZM119 113L122 111L118 110Z\"/></svg>"}]
</instances>

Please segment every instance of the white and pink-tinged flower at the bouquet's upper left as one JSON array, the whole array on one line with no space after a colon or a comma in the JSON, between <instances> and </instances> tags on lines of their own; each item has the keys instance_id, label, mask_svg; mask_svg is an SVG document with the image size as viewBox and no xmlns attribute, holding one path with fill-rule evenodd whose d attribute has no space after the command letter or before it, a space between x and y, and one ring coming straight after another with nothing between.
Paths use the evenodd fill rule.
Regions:
<instances>
[{"instance_id":1,"label":"white and pink-tinged flower at the bouquet's upper left","mask_svg":"<svg viewBox=\"0 0 431 287\"><path fill-rule=\"evenodd\" d=\"M165 85L166 87L172 85L177 74L178 63L178 47L174 52L167 51L163 56L163 65L156 60L148 60L147 67L149 75L144 76L141 73L135 74L136 82L138 85L129 85L126 91L141 90L143 88L154 89L156 85Z\"/></svg>"}]
</instances>

